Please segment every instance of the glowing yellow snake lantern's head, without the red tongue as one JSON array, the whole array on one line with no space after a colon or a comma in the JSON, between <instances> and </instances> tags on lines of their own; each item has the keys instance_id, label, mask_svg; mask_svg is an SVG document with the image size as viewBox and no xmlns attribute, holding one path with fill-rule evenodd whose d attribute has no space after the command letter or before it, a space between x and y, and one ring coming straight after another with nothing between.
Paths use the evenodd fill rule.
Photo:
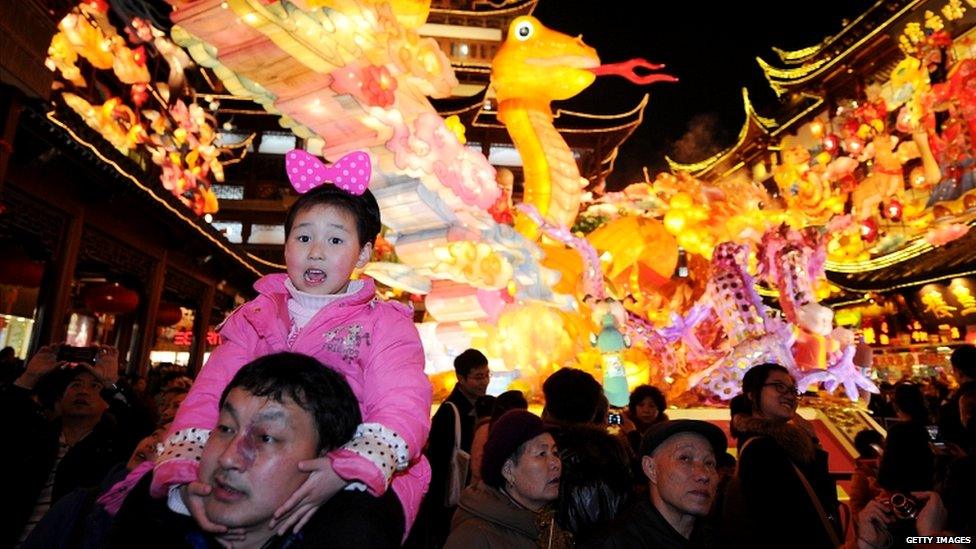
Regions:
<instances>
[{"instance_id":1,"label":"glowing yellow snake lantern's head, without the red tongue","mask_svg":"<svg viewBox=\"0 0 976 549\"><path fill-rule=\"evenodd\" d=\"M509 26L492 62L491 79L500 103L513 98L548 103L586 89L596 79L589 69L599 65L596 50L581 37L556 32L524 15Z\"/></svg>"}]
</instances>

